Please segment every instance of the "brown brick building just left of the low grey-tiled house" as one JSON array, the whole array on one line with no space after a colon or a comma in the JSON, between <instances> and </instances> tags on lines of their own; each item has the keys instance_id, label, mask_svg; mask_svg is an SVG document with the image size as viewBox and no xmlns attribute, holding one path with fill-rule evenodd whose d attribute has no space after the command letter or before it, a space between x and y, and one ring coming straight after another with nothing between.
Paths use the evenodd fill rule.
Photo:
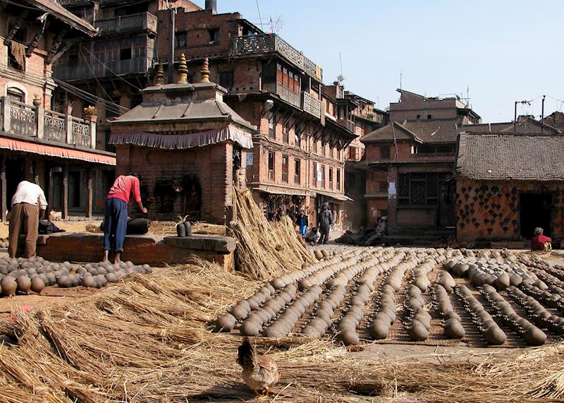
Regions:
<instances>
[{"instance_id":1,"label":"brown brick building just left of the low grey-tiled house","mask_svg":"<svg viewBox=\"0 0 564 403\"><path fill-rule=\"evenodd\" d=\"M398 90L391 123L364 136L367 215L388 216L391 227L454 227L458 128L480 117L458 97L423 97Z\"/></svg>"}]
</instances>

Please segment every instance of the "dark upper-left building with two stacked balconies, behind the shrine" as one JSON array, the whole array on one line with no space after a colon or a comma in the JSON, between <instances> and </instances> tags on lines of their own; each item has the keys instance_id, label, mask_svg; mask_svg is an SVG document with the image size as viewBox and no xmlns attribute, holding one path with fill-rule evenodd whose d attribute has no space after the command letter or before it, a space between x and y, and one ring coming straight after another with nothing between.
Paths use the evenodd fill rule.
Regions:
<instances>
[{"instance_id":1,"label":"dark upper-left building with two stacked balconies, behind the shrine","mask_svg":"<svg viewBox=\"0 0 564 403\"><path fill-rule=\"evenodd\" d=\"M60 88L56 102L68 102L74 111L95 102L98 111L97 148L113 150L108 144L109 121L140 104L140 90L150 85L149 73L159 56L166 56L166 44L159 49L159 27L170 18L167 1L62 0L61 4L84 18L99 31L93 38L73 44L54 66ZM177 8L200 10L188 0L176 1Z\"/></svg>"}]
</instances>

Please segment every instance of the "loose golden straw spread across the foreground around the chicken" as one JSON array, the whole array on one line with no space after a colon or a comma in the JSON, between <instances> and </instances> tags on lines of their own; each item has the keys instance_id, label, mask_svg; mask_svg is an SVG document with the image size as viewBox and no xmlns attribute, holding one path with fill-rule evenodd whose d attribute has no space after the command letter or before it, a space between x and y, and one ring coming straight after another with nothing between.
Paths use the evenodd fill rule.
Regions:
<instances>
[{"instance_id":1,"label":"loose golden straw spread across the foreground around the chicken","mask_svg":"<svg viewBox=\"0 0 564 403\"><path fill-rule=\"evenodd\" d=\"M235 363L240 337L209 320L261 285L203 261L135 275L78 303L14 313L0 331L0 401L195 402L253 399ZM564 343L515 359L422 365L360 361L331 340L254 339L281 370L283 402L498 402L564 397ZM257 401L263 401L259 398Z\"/></svg>"}]
</instances>

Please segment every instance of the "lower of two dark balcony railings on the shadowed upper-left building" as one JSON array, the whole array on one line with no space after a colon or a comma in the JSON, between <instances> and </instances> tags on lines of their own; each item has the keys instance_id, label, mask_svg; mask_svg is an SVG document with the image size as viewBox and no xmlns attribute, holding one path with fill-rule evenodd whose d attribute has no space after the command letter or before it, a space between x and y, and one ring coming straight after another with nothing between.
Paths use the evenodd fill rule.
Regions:
<instances>
[{"instance_id":1,"label":"lower of two dark balcony railings on the shadowed upper-left building","mask_svg":"<svg viewBox=\"0 0 564 403\"><path fill-rule=\"evenodd\" d=\"M145 74L151 67L151 59L137 57L135 59L104 61L91 60L92 67L85 63L56 64L53 67L53 76L63 81L89 80L92 78L114 77L116 74Z\"/></svg>"}]
</instances>

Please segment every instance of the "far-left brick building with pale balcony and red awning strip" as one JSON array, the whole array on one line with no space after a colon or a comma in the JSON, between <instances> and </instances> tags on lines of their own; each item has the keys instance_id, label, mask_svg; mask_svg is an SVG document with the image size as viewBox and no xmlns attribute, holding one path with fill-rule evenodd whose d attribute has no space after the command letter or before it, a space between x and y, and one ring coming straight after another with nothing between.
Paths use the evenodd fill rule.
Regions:
<instances>
[{"instance_id":1,"label":"far-left brick building with pale balcony and red awning strip","mask_svg":"<svg viewBox=\"0 0 564 403\"><path fill-rule=\"evenodd\" d=\"M95 109L61 113L51 66L81 38L96 35L86 21L51 0L0 4L0 211L18 183L35 181L46 191L49 208L91 216L102 208L104 181L113 179L115 155L95 150ZM82 119L84 117L85 119ZM109 177L111 176L111 178Z\"/></svg>"}]
</instances>

